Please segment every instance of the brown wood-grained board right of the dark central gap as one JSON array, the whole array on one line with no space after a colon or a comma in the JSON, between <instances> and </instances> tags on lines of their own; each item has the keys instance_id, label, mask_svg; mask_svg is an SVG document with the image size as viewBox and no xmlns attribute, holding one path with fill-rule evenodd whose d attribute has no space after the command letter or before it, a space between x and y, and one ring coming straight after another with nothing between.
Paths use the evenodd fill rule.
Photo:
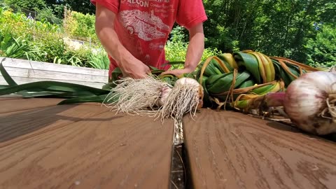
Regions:
<instances>
[{"instance_id":1,"label":"brown wood-grained board right of the dark central gap","mask_svg":"<svg viewBox=\"0 0 336 189\"><path fill-rule=\"evenodd\" d=\"M335 188L336 144L242 113L184 120L193 188Z\"/></svg>"}]
</instances>

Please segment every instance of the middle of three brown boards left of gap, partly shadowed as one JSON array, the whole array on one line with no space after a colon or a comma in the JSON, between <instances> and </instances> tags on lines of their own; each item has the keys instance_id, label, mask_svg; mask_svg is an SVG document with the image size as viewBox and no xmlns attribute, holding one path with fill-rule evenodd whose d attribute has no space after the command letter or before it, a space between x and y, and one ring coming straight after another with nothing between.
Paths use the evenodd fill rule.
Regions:
<instances>
[{"instance_id":1,"label":"middle of three brown boards left of gap, partly shadowed","mask_svg":"<svg viewBox=\"0 0 336 189\"><path fill-rule=\"evenodd\" d=\"M0 148L109 111L105 106L88 104L1 113Z\"/></svg>"}]
</instances>

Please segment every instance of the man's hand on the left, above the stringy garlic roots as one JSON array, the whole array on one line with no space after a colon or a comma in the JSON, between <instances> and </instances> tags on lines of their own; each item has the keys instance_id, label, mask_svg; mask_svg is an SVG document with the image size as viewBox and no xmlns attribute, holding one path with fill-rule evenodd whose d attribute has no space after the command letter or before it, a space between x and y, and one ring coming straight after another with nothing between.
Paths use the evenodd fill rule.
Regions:
<instances>
[{"instance_id":1,"label":"man's hand on the left, above the stringy garlic roots","mask_svg":"<svg viewBox=\"0 0 336 189\"><path fill-rule=\"evenodd\" d=\"M148 75L148 73L151 73L149 67L136 58L123 59L123 61L120 62L118 66L123 72L124 77L131 77L136 79L144 78Z\"/></svg>"}]
</instances>

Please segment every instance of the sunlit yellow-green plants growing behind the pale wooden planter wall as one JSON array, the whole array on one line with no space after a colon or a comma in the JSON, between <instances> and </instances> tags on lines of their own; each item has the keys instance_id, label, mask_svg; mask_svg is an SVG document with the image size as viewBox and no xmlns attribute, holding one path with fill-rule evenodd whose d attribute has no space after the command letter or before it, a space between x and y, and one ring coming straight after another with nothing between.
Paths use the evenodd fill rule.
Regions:
<instances>
[{"instance_id":1,"label":"sunlit yellow-green plants growing behind the pale wooden planter wall","mask_svg":"<svg viewBox=\"0 0 336 189\"><path fill-rule=\"evenodd\" d=\"M50 8L45 9L45 14L41 13L39 16L41 20L36 21L27 19L23 13L13 13L10 8L0 8L0 33L8 35L7 37L2 35L1 55L73 66L91 66L92 62L91 64L88 62L92 55L89 45L85 44L84 48L76 50L71 49L64 41L62 26L52 24L50 20L43 18L48 17L50 11ZM71 18L76 21L75 26L79 25L73 35L83 34L83 38L95 35L92 15L74 12L71 14L73 15ZM82 27L83 25L85 27ZM96 48L96 45L91 44L91 46Z\"/></svg>"}]
</instances>

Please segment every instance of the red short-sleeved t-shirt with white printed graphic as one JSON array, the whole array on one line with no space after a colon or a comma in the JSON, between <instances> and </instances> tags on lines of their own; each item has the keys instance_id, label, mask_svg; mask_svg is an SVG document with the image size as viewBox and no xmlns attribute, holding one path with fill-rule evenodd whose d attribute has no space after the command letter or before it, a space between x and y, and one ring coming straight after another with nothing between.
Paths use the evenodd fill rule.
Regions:
<instances>
[{"instance_id":1,"label":"red short-sleeved t-shirt with white printed graphic","mask_svg":"<svg viewBox=\"0 0 336 189\"><path fill-rule=\"evenodd\" d=\"M207 20L202 0L91 0L117 15L115 29L120 42L148 66L169 69L165 43L174 22L189 29ZM117 67L111 57L109 75Z\"/></svg>"}]
</instances>

